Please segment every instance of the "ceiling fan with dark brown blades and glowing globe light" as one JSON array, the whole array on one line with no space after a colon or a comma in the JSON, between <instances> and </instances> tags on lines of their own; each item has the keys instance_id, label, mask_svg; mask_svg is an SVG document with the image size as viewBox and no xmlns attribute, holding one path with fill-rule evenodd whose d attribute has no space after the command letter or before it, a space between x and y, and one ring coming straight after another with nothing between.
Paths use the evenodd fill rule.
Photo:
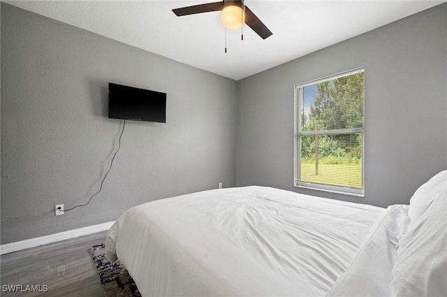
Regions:
<instances>
[{"instance_id":1,"label":"ceiling fan with dark brown blades and glowing globe light","mask_svg":"<svg viewBox=\"0 0 447 297\"><path fill-rule=\"evenodd\" d=\"M173 12L177 17L183 15L194 15L196 13L209 13L211 11L222 10L221 22L228 29L237 29L245 23L261 38L265 39L272 35L272 31L256 17L256 15L244 5L242 1L219 1L182 8L175 8ZM243 39L243 35L242 35Z\"/></svg>"}]
</instances>

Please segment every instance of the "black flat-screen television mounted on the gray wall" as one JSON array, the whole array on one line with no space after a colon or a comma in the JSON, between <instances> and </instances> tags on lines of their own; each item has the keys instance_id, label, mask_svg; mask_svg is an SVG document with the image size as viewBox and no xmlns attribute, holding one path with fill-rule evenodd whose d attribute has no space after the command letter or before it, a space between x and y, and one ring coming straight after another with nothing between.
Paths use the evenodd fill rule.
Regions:
<instances>
[{"instance_id":1,"label":"black flat-screen television mounted on the gray wall","mask_svg":"<svg viewBox=\"0 0 447 297\"><path fill-rule=\"evenodd\" d=\"M109 118L166 123L166 93L109 82Z\"/></svg>"}]
</instances>

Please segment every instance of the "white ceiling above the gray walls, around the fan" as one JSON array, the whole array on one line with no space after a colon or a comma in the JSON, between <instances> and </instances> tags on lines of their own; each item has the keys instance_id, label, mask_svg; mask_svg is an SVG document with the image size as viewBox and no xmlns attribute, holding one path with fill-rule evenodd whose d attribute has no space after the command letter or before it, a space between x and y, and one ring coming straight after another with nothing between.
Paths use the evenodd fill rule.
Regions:
<instances>
[{"instance_id":1,"label":"white ceiling above the gray walls, around the fan","mask_svg":"<svg viewBox=\"0 0 447 297\"><path fill-rule=\"evenodd\" d=\"M202 1L5 1L137 48L240 80L446 1L245 0L273 32L227 31L220 12L177 17Z\"/></svg>"}]
</instances>

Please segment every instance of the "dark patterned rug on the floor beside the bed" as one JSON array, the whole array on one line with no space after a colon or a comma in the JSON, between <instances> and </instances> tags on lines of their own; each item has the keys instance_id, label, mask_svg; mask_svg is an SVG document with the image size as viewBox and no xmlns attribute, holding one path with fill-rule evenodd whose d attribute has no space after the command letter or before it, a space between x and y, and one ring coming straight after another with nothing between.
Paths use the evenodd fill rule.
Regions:
<instances>
[{"instance_id":1,"label":"dark patterned rug on the floor beside the bed","mask_svg":"<svg viewBox=\"0 0 447 297\"><path fill-rule=\"evenodd\" d=\"M104 244L91 247L90 254L106 297L141 297L135 282L122 263L119 261L110 263L105 258Z\"/></svg>"}]
</instances>

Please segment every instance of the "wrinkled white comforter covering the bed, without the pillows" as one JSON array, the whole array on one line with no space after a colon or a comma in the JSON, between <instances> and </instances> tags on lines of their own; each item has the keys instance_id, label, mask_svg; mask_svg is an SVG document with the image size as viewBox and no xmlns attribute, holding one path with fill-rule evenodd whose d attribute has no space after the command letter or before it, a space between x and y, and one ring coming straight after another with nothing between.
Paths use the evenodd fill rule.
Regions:
<instances>
[{"instance_id":1,"label":"wrinkled white comforter covering the bed, without the pillows","mask_svg":"<svg viewBox=\"0 0 447 297\"><path fill-rule=\"evenodd\" d=\"M124 264L142 296L337 296L349 287L339 277L391 265L387 256L369 267L355 260L388 240L384 230L405 228L404 205L392 211L400 223L384 227L390 210L370 205L268 187L203 191L124 212L106 256Z\"/></svg>"}]
</instances>

